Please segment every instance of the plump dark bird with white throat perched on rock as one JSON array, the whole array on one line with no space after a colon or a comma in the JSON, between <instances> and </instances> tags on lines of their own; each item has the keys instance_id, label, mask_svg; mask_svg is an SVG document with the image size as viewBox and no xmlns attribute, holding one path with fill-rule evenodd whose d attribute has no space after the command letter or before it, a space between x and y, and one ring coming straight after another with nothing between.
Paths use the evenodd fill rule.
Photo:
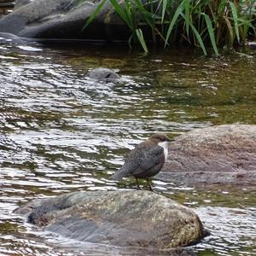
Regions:
<instances>
[{"instance_id":1,"label":"plump dark bird with white throat perched on rock","mask_svg":"<svg viewBox=\"0 0 256 256\"><path fill-rule=\"evenodd\" d=\"M156 175L164 166L168 155L168 142L171 141L164 133L152 135L147 141L131 150L125 164L113 174L112 178L119 181L123 177L134 176L137 189L140 189L137 179L146 178L149 189L152 190L148 177Z\"/></svg>"}]
</instances>

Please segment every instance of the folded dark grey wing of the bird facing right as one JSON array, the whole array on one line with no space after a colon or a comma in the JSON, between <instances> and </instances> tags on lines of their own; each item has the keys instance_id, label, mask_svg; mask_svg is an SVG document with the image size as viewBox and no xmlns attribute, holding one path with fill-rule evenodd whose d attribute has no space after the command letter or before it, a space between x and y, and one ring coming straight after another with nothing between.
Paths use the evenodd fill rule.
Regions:
<instances>
[{"instance_id":1,"label":"folded dark grey wing of the bird facing right","mask_svg":"<svg viewBox=\"0 0 256 256\"><path fill-rule=\"evenodd\" d=\"M154 166L160 164L161 156L164 154L164 148L156 145L153 148L147 148L143 151L143 156L139 163L139 166L131 172L132 175L145 172Z\"/></svg>"}]
</instances>

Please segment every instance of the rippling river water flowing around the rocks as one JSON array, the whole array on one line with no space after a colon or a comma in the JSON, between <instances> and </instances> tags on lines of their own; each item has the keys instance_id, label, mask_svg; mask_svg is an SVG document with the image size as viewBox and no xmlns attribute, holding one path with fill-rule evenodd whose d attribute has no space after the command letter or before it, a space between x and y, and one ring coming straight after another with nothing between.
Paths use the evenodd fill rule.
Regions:
<instances>
[{"instance_id":1,"label":"rippling river water flowing around the rocks","mask_svg":"<svg viewBox=\"0 0 256 256\"><path fill-rule=\"evenodd\" d=\"M201 57L189 49L142 55L124 47L0 44L0 255L121 255L38 230L15 215L34 198L75 190L136 189L110 176L154 131L256 124L256 52ZM113 68L118 83L89 79ZM145 183L143 183L146 185ZM212 235L197 255L256 255L256 188L154 190L197 212Z\"/></svg>"}]
</instances>

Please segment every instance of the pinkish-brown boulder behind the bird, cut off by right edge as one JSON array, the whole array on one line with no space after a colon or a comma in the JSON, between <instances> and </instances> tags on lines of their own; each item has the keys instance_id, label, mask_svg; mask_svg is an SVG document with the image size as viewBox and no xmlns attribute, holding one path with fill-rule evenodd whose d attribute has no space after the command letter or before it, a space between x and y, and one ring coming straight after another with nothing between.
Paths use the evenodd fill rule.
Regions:
<instances>
[{"instance_id":1,"label":"pinkish-brown boulder behind the bird, cut off by right edge","mask_svg":"<svg viewBox=\"0 0 256 256\"><path fill-rule=\"evenodd\" d=\"M177 137L157 177L190 184L255 185L256 125L218 125Z\"/></svg>"}]
</instances>

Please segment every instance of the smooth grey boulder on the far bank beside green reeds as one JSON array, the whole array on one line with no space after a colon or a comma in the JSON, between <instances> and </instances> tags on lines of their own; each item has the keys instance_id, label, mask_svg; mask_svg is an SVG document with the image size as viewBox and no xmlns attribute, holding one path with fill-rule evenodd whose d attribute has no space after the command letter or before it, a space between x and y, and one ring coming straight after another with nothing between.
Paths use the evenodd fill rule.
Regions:
<instances>
[{"instance_id":1,"label":"smooth grey boulder on the far bank beside green reeds","mask_svg":"<svg viewBox=\"0 0 256 256\"><path fill-rule=\"evenodd\" d=\"M95 11L98 3L99 0L81 4L78 0L20 0L13 13L0 20L0 32L23 38L128 39L129 29L113 12L109 1L96 20L83 30L85 20Z\"/></svg>"}]
</instances>

